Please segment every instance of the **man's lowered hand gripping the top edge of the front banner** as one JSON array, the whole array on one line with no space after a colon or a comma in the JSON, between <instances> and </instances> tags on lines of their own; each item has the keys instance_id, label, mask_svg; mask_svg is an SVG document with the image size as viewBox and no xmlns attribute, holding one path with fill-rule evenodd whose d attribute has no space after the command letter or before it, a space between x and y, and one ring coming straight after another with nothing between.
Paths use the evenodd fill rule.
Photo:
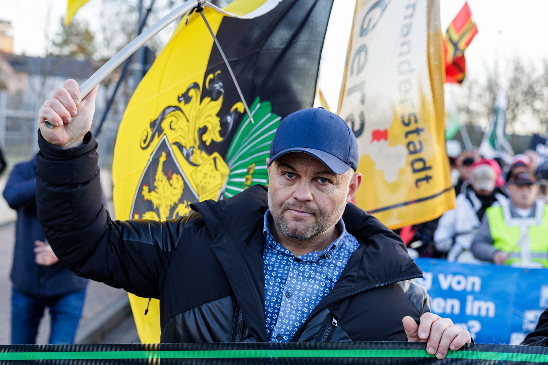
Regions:
<instances>
[{"instance_id":1,"label":"man's lowered hand gripping the top edge of the front banner","mask_svg":"<svg viewBox=\"0 0 548 365\"><path fill-rule=\"evenodd\" d=\"M472 340L470 332L454 325L449 318L433 313L420 316L419 325L409 316L403 317L402 321L407 340L426 342L426 351L437 358L444 358L449 349L458 350Z\"/></svg>"}]
</instances>

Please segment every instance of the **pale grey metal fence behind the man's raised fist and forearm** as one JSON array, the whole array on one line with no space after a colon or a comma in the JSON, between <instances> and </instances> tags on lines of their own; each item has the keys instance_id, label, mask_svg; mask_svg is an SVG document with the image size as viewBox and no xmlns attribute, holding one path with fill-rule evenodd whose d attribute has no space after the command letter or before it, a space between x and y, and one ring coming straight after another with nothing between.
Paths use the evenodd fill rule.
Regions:
<instances>
[{"instance_id":1,"label":"pale grey metal fence behind the man's raised fist and forearm","mask_svg":"<svg viewBox=\"0 0 548 365\"><path fill-rule=\"evenodd\" d=\"M38 149L38 109L42 101L24 100L19 94L8 94L0 90L0 146L4 152L4 158L9 165L30 159ZM98 123L101 111L95 111L95 123ZM122 115L109 114L103 125L99 138L99 163L101 166L112 165L112 155L118 126Z\"/></svg>"}]
</instances>

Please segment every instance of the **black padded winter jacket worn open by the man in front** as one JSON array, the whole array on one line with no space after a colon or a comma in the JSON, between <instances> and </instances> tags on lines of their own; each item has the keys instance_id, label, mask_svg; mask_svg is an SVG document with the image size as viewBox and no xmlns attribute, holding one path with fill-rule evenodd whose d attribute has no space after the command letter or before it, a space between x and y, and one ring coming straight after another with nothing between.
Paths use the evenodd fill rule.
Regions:
<instances>
[{"instance_id":1,"label":"black padded winter jacket worn open by the man in front","mask_svg":"<svg viewBox=\"0 0 548 365\"><path fill-rule=\"evenodd\" d=\"M264 187L196 203L172 221L111 221L94 138L68 150L41 135L38 143L38 218L61 262L78 275L159 298L162 342L267 341ZM402 318L418 321L429 309L425 290L409 281L420 269L374 217L348 205L343 219L361 245L292 341L406 340Z\"/></svg>"}]
</instances>

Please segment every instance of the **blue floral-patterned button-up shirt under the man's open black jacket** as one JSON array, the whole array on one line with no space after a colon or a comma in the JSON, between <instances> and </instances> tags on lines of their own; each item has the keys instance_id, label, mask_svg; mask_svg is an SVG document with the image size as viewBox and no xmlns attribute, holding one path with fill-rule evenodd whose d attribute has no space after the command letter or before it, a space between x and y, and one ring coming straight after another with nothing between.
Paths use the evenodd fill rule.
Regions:
<instances>
[{"instance_id":1,"label":"blue floral-patterned button-up shirt under the man's open black jacket","mask_svg":"<svg viewBox=\"0 0 548 365\"><path fill-rule=\"evenodd\" d=\"M265 275L265 321L270 342L289 342L310 312L335 286L358 248L356 237L347 233L343 219L337 223L339 237L322 252L294 256L270 231L272 217L265 213L262 254Z\"/></svg>"}]
</instances>

